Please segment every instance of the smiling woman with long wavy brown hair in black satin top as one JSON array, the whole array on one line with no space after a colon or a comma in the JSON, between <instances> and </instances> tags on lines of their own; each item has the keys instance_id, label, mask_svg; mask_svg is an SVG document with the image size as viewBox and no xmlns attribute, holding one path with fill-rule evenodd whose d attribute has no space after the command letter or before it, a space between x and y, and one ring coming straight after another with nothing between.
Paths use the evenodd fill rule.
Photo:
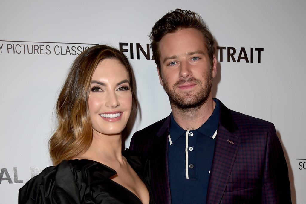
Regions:
<instances>
[{"instance_id":1,"label":"smiling woman with long wavy brown hair in black satin top","mask_svg":"<svg viewBox=\"0 0 306 204\"><path fill-rule=\"evenodd\" d=\"M148 162L121 153L121 132L136 104L125 55L106 45L82 52L56 105L58 128L49 140L55 166L19 190L19 203L154 203Z\"/></svg>"}]
</instances>

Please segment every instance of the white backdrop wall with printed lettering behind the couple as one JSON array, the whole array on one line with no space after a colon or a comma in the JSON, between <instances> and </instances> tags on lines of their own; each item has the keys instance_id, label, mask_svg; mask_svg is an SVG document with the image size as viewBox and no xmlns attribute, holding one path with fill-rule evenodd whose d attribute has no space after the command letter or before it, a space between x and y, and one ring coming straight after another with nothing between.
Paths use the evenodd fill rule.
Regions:
<instances>
[{"instance_id":1,"label":"white backdrop wall with printed lettering behind the couple","mask_svg":"<svg viewBox=\"0 0 306 204\"><path fill-rule=\"evenodd\" d=\"M213 96L274 123L293 203L306 202L305 1L0 2L0 203L51 165L54 105L73 60L95 44L130 59L140 108L132 134L170 114L148 34L170 9L199 13L215 38ZM251 167L250 167L251 168Z\"/></svg>"}]
</instances>

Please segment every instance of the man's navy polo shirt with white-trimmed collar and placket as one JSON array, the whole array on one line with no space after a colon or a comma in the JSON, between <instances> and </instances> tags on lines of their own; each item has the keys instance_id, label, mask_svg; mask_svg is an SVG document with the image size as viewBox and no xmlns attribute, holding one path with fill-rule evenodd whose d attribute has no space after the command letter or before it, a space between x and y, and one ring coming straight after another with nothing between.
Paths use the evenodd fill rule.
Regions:
<instances>
[{"instance_id":1,"label":"man's navy polo shirt with white-trimmed collar and placket","mask_svg":"<svg viewBox=\"0 0 306 204\"><path fill-rule=\"evenodd\" d=\"M171 113L168 169L173 204L205 203L215 149L220 104L196 130L184 130Z\"/></svg>"}]
</instances>

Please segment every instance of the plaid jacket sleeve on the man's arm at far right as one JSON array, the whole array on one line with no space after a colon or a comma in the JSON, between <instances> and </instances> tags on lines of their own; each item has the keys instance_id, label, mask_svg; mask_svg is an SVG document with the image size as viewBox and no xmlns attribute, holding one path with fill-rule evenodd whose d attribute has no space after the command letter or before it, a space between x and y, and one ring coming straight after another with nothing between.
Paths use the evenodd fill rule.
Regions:
<instances>
[{"instance_id":1,"label":"plaid jacket sleeve on the man's arm at far right","mask_svg":"<svg viewBox=\"0 0 306 204\"><path fill-rule=\"evenodd\" d=\"M282 145L272 123L270 123L267 132L262 203L292 203L288 167Z\"/></svg>"}]
</instances>

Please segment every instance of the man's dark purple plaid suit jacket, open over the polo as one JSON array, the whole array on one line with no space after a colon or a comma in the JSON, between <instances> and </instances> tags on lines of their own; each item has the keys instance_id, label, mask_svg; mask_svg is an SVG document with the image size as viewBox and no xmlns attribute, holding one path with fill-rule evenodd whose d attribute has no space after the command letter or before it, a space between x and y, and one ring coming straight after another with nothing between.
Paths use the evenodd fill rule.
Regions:
<instances>
[{"instance_id":1,"label":"man's dark purple plaid suit jacket, open over the polo","mask_svg":"<svg viewBox=\"0 0 306 204\"><path fill-rule=\"evenodd\" d=\"M150 186L158 204L171 203L169 125L170 116L137 131L130 144L130 149L150 159ZM220 102L206 203L291 203L288 167L272 123L232 111Z\"/></svg>"}]
</instances>

